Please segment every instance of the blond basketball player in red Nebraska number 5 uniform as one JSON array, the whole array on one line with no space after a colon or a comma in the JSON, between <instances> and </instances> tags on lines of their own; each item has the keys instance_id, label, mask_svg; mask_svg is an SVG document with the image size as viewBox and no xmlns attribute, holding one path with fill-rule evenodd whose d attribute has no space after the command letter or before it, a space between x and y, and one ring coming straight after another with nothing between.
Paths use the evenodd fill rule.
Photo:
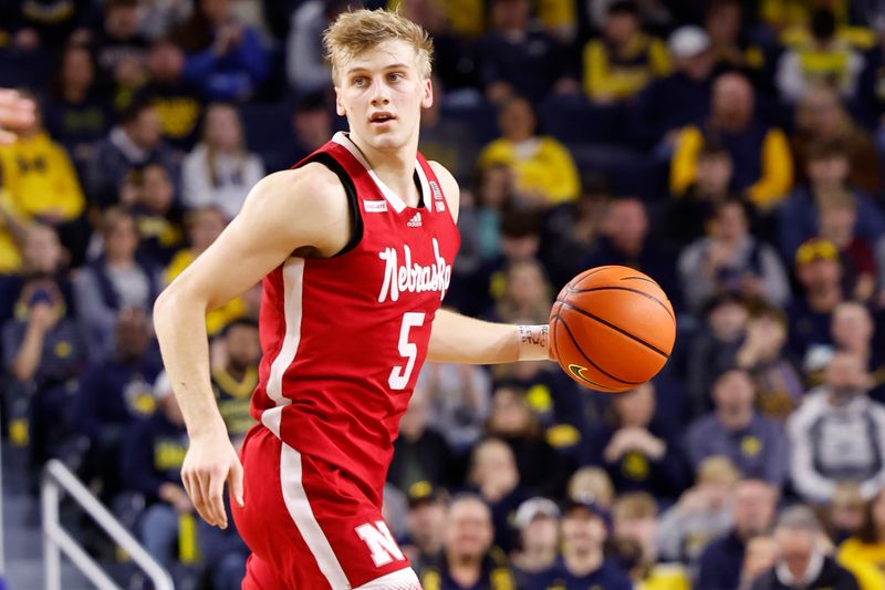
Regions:
<instances>
[{"instance_id":1,"label":"blond basketball player in red Nebraska number 5 uniform","mask_svg":"<svg viewBox=\"0 0 885 590\"><path fill-rule=\"evenodd\" d=\"M418 589L381 508L421 364L546 360L548 327L439 310L459 194L417 152L434 100L427 34L360 10L340 17L325 44L350 133L254 186L157 300L157 337L190 435L185 488L223 528L228 482L252 550L243 588ZM209 382L204 318L262 277L260 424L238 458Z\"/></svg>"}]
</instances>

